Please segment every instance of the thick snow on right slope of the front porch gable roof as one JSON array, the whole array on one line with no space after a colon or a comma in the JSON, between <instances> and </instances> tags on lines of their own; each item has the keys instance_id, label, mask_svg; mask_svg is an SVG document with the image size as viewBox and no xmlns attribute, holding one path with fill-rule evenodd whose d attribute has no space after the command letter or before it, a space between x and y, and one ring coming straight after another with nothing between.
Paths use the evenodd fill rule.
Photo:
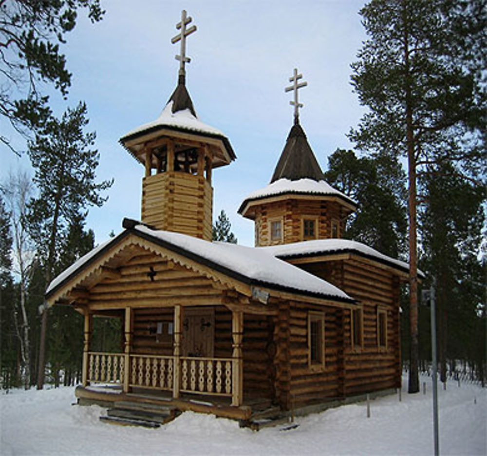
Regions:
<instances>
[{"instance_id":1,"label":"thick snow on right slope of the front porch gable roof","mask_svg":"<svg viewBox=\"0 0 487 456\"><path fill-rule=\"evenodd\" d=\"M208 242L186 234L153 230L144 225L137 225L135 230L183 248L249 279L303 292L351 300L335 285L275 258L262 248L239 246L227 242Z\"/></svg>"}]
</instances>

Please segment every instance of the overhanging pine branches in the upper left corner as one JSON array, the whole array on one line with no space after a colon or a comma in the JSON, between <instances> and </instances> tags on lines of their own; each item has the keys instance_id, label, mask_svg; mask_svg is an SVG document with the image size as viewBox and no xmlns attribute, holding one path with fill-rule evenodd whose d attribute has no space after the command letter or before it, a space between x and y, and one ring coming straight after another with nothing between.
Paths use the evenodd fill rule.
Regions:
<instances>
[{"instance_id":1,"label":"overhanging pine branches in the upper left corner","mask_svg":"<svg viewBox=\"0 0 487 456\"><path fill-rule=\"evenodd\" d=\"M0 1L0 115L24 136L51 113L40 83L67 94L71 74L59 44L75 28L77 10L82 8L88 9L92 22L103 17L99 0ZM7 136L0 134L0 142L16 152Z\"/></svg>"}]
</instances>

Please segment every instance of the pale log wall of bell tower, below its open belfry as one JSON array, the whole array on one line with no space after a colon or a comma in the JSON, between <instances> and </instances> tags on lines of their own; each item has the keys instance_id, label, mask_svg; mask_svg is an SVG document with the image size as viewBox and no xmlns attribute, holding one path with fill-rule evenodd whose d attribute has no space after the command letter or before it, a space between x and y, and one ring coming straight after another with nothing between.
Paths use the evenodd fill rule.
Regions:
<instances>
[{"instance_id":1,"label":"pale log wall of bell tower, below its open belfry","mask_svg":"<svg viewBox=\"0 0 487 456\"><path fill-rule=\"evenodd\" d=\"M211 240L213 189L203 176L168 171L142 180L142 221Z\"/></svg>"}]
</instances>

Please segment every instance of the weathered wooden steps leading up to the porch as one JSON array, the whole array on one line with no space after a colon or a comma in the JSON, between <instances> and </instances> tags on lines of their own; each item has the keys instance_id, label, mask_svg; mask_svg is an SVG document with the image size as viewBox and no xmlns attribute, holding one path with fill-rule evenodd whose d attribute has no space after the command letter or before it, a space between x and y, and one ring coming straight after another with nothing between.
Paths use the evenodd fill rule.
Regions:
<instances>
[{"instance_id":1,"label":"weathered wooden steps leading up to the porch","mask_svg":"<svg viewBox=\"0 0 487 456\"><path fill-rule=\"evenodd\" d=\"M158 428L178 415L174 408L147 402L117 401L108 409L108 415L100 417L106 423L122 426Z\"/></svg>"}]
</instances>

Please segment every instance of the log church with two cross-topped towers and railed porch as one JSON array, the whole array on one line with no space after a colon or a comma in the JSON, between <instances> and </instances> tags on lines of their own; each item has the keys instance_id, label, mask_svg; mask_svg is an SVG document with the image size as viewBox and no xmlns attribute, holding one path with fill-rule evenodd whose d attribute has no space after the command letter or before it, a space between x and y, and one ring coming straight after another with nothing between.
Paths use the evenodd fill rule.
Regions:
<instances>
[{"instance_id":1,"label":"log church with two cross-topped towers and railed porch","mask_svg":"<svg viewBox=\"0 0 487 456\"><path fill-rule=\"evenodd\" d=\"M124 219L46 292L49 306L84 315L78 401L251 422L400 387L408 265L342 239L356 203L323 180L299 122L297 70L286 89L294 125L271 182L239 209L255 247L211 242L212 173L236 156L188 94L190 22L183 11L179 80L162 114L120 139L145 168L141 220ZM97 317L122 321L119 353L92 350Z\"/></svg>"}]
</instances>

